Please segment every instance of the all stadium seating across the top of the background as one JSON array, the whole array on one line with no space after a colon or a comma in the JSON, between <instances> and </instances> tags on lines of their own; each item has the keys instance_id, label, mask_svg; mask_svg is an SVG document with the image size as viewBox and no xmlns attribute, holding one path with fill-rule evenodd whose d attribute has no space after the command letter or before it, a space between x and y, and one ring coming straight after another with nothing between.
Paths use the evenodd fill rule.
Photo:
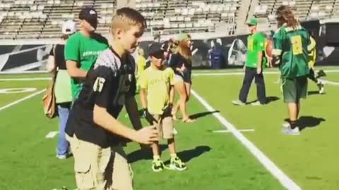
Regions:
<instances>
[{"instance_id":1,"label":"all stadium seating across the top of the background","mask_svg":"<svg viewBox=\"0 0 339 190\"><path fill-rule=\"evenodd\" d=\"M56 39L64 20L78 20L85 5L99 15L98 31L109 32L118 0L0 0L0 39ZM145 16L152 34L215 32L237 34L245 30L244 20L254 14L265 29L275 24L280 5L295 8L299 20L339 16L339 0L133 0ZM242 10L242 11L240 11ZM249 11L251 10L251 11ZM236 31L237 29L237 31Z\"/></svg>"}]
</instances>

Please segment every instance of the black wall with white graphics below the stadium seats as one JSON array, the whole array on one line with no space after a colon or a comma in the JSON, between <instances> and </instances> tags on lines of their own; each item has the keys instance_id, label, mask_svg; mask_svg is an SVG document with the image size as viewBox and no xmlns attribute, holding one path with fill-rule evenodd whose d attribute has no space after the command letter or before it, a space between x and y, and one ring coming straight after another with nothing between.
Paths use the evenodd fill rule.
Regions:
<instances>
[{"instance_id":1,"label":"black wall with white graphics below the stadium seats","mask_svg":"<svg viewBox=\"0 0 339 190\"><path fill-rule=\"evenodd\" d=\"M246 56L246 38L247 35L220 37L212 39L194 40L193 50L196 53L193 56L194 68L210 68L209 52L215 47L221 49L222 68L243 65L244 56ZM234 40L237 42L234 44ZM326 46L321 43L321 37L317 38L317 65L339 65L339 47ZM143 41L141 47L147 55L147 47L152 41ZM232 47L233 51L230 51ZM51 44L40 45L3 45L0 46L0 72L45 72L45 65ZM234 53L236 61L230 63L230 53Z\"/></svg>"}]
</instances>

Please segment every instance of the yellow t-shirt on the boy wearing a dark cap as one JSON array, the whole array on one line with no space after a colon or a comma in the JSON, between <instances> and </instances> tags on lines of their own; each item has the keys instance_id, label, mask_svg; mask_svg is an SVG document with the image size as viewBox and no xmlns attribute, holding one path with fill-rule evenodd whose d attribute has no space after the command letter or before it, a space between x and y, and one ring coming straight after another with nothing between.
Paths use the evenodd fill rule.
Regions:
<instances>
[{"instance_id":1,"label":"yellow t-shirt on the boy wearing a dark cap","mask_svg":"<svg viewBox=\"0 0 339 190\"><path fill-rule=\"evenodd\" d=\"M141 74L139 85L147 90L148 111L161 115L162 109L169 104L169 90L174 85L174 72L172 68L157 70L150 66Z\"/></svg>"}]
</instances>

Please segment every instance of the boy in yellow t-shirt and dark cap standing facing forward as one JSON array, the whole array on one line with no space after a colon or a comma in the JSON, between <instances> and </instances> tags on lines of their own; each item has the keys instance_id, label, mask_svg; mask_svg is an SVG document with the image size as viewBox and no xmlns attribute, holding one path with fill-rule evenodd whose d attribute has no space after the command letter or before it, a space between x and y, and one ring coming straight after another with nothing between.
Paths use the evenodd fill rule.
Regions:
<instances>
[{"instance_id":1,"label":"boy in yellow t-shirt and dark cap standing facing forward","mask_svg":"<svg viewBox=\"0 0 339 190\"><path fill-rule=\"evenodd\" d=\"M163 65L165 51L160 43L152 44L149 48L149 56L152 64L139 79L141 87L141 105L144 116L148 122L154 124L159 132L159 139L167 139L171 156L169 169L186 170L186 165L177 156L174 141L174 126L172 119L172 103L174 99L174 72L172 68ZM160 172L165 168L160 160L159 142L152 144L154 172Z\"/></svg>"}]
</instances>

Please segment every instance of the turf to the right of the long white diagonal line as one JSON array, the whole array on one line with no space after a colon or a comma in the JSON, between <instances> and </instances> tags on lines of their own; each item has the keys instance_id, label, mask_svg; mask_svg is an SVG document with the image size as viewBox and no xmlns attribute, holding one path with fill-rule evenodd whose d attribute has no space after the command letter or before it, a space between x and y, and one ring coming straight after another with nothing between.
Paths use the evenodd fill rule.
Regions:
<instances>
[{"instance_id":1,"label":"turf to the right of the long white diagonal line","mask_svg":"<svg viewBox=\"0 0 339 190\"><path fill-rule=\"evenodd\" d=\"M328 80L339 82L338 74ZM281 124L287 118L277 75L266 75L266 91L270 98L267 106L233 106L242 84L242 76L195 77L194 89L238 129L255 129L245 136L263 150L302 189L338 189L339 166L335 165L335 152L339 132L338 113L334 102L339 86L326 86L326 95L317 94L315 84L309 82L309 97L302 101L302 135L286 137ZM210 84L213 84L211 86ZM215 88L215 87L223 88ZM253 85L248 101L256 100Z\"/></svg>"}]
</instances>

